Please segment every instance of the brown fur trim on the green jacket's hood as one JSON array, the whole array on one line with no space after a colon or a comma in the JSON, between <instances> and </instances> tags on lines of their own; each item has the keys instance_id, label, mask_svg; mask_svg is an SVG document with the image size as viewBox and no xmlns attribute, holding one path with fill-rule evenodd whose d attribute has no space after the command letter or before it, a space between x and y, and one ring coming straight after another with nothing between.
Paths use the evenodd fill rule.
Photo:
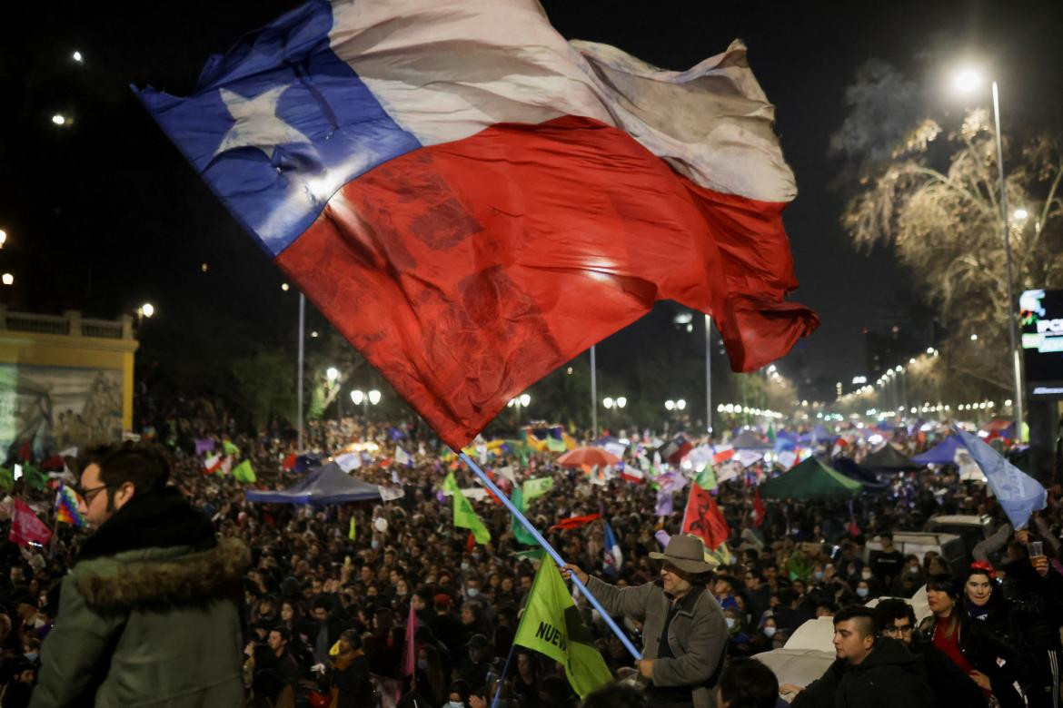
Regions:
<instances>
[{"instance_id":1,"label":"brown fur trim on the green jacket's hood","mask_svg":"<svg viewBox=\"0 0 1063 708\"><path fill-rule=\"evenodd\" d=\"M98 611L206 605L231 597L234 584L239 587L240 576L251 567L250 549L236 538L222 538L207 551L137 556L80 564L74 584L85 603Z\"/></svg>"}]
</instances>

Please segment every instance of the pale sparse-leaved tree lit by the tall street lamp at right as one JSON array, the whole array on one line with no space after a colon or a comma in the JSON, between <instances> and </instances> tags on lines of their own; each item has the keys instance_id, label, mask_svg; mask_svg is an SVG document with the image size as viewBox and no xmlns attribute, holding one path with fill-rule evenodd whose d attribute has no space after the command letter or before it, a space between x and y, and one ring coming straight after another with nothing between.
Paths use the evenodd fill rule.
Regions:
<instances>
[{"instance_id":1,"label":"pale sparse-leaved tree lit by the tall street lamp at right","mask_svg":"<svg viewBox=\"0 0 1063 708\"><path fill-rule=\"evenodd\" d=\"M951 133L924 120L888 159L865 163L842 224L858 247L891 245L911 269L949 329L945 364L1008 390L1008 317L1017 313L1007 297L995 140L984 109ZM1063 287L1063 143L1040 135L1020 148L1006 141L1006 151L1008 203L1026 214L1010 229L1016 295Z\"/></svg>"}]
</instances>

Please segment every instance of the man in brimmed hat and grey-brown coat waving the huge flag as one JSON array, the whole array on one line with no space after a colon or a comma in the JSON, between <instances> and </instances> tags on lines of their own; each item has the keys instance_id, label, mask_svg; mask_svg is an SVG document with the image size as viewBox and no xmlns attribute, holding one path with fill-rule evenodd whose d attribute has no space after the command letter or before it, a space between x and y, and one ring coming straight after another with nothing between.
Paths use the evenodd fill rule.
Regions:
<instances>
[{"instance_id":1,"label":"man in brimmed hat and grey-brown coat waving the huge flag","mask_svg":"<svg viewBox=\"0 0 1063 708\"><path fill-rule=\"evenodd\" d=\"M712 689L723 668L727 623L705 583L712 567L696 536L672 536L660 577L638 587L618 588L566 566L610 614L642 622L639 683L654 708L711 708Z\"/></svg>"}]
</instances>

